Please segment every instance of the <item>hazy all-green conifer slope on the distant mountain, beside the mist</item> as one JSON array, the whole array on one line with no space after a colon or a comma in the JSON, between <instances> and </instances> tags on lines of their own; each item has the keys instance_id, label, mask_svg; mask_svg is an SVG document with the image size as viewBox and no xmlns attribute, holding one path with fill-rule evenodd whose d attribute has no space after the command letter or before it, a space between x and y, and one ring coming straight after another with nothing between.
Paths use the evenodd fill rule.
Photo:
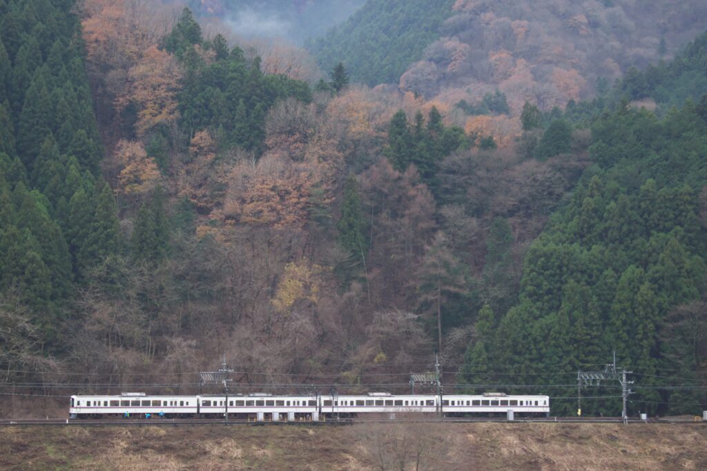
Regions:
<instances>
[{"instance_id":1,"label":"hazy all-green conifer slope on the distant mountain, beside the mist","mask_svg":"<svg viewBox=\"0 0 707 471\"><path fill-rule=\"evenodd\" d=\"M397 82L436 40L453 0L369 0L343 25L308 45L324 70L343 61L356 82Z\"/></svg>"}]
</instances>

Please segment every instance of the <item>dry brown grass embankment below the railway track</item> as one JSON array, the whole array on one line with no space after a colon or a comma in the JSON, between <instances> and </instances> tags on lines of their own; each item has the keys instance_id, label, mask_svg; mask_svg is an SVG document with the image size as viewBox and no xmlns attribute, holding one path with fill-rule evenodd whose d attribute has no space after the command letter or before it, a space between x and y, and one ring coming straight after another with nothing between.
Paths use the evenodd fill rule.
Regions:
<instances>
[{"instance_id":1,"label":"dry brown grass embankment below the railway track","mask_svg":"<svg viewBox=\"0 0 707 471\"><path fill-rule=\"evenodd\" d=\"M707 425L3 427L2 470L705 470Z\"/></svg>"}]
</instances>

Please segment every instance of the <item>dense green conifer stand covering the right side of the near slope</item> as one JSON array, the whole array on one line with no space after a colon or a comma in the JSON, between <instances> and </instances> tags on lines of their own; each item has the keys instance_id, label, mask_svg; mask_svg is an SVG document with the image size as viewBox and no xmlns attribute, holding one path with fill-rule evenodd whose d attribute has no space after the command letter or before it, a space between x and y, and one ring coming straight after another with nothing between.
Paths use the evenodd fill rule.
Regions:
<instances>
[{"instance_id":1,"label":"dense green conifer stand covering the right side of the near slope","mask_svg":"<svg viewBox=\"0 0 707 471\"><path fill-rule=\"evenodd\" d=\"M698 219L707 121L688 102L662 121L645 110L604 114L592 133L597 165L530 247L519 302L503 316L491 354L515 372L544 372L522 380L540 384L561 383L615 350L643 375L633 409L662 413L679 401L660 389L659 376L684 369L677 354L664 353L674 347L662 332L672 333L670 344L689 342L670 318L699 299L707 275ZM585 410L617 407L588 400Z\"/></svg>"}]
</instances>

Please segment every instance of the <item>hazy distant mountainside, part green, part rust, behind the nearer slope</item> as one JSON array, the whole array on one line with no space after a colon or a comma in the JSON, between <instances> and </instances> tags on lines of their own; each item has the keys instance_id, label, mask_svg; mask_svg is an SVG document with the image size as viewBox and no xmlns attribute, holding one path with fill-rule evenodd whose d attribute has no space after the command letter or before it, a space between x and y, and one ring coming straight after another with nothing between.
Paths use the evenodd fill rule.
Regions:
<instances>
[{"instance_id":1,"label":"hazy distant mountainside, part green, part rust, behind the nearer slope","mask_svg":"<svg viewBox=\"0 0 707 471\"><path fill-rule=\"evenodd\" d=\"M452 105L500 89L515 110L526 100L549 110L672 56L706 15L702 1L369 1L310 49L371 86Z\"/></svg>"}]
</instances>

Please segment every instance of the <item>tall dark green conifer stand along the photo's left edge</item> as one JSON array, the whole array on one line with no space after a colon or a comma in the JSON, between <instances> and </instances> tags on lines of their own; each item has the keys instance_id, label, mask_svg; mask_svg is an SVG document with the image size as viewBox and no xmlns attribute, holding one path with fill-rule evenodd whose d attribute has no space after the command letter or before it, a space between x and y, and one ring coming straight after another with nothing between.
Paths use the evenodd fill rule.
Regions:
<instances>
[{"instance_id":1,"label":"tall dark green conifer stand along the photo's left edge","mask_svg":"<svg viewBox=\"0 0 707 471\"><path fill-rule=\"evenodd\" d=\"M73 4L6 1L0 22L0 296L24 304L48 350L119 237L115 201L93 190L102 150Z\"/></svg>"}]
</instances>

